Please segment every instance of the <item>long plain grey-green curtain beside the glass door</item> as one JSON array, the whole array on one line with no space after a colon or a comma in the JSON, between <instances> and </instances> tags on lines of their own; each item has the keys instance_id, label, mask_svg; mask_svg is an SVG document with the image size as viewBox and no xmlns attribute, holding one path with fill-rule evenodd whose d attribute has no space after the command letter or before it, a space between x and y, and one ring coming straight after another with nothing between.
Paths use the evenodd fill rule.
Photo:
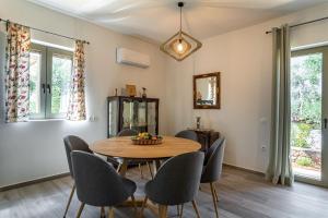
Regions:
<instances>
[{"instance_id":1,"label":"long plain grey-green curtain beside the glass door","mask_svg":"<svg viewBox=\"0 0 328 218\"><path fill-rule=\"evenodd\" d=\"M290 27L283 25L281 28L273 28L272 38L272 123L267 179L274 184L292 185L294 178L290 158Z\"/></svg>"}]
</instances>

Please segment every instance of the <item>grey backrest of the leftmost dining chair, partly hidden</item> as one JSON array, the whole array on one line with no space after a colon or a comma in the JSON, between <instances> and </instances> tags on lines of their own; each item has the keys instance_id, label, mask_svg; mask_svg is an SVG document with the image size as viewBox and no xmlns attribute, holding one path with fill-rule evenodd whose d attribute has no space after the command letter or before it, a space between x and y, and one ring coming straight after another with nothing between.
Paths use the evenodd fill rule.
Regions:
<instances>
[{"instance_id":1,"label":"grey backrest of the leftmost dining chair, partly hidden","mask_svg":"<svg viewBox=\"0 0 328 218\"><path fill-rule=\"evenodd\" d=\"M82 138L75 136L75 135L68 135L63 138L65 144L65 150L67 156L67 161L69 164L70 173L73 177L73 170L72 170L72 160L71 160L71 152L73 150L83 150L86 153L92 153L92 150L89 148L87 143L85 143Z\"/></svg>"}]
</instances>

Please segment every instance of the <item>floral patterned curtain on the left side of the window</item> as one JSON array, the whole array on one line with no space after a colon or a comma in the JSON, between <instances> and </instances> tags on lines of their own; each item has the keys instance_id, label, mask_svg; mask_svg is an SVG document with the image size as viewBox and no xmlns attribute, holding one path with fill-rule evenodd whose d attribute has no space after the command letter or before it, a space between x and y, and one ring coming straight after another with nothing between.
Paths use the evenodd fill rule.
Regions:
<instances>
[{"instance_id":1,"label":"floral patterned curtain on the left side of the window","mask_svg":"<svg viewBox=\"0 0 328 218\"><path fill-rule=\"evenodd\" d=\"M5 121L27 121L30 105L30 28L9 22L7 40Z\"/></svg>"}]
</instances>

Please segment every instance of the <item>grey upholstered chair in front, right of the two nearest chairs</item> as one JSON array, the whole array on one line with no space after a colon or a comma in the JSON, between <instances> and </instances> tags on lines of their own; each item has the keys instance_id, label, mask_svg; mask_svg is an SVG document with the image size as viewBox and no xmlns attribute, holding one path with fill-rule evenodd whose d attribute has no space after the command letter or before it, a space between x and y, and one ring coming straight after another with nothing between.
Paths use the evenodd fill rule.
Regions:
<instances>
[{"instance_id":1,"label":"grey upholstered chair in front, right of the two nearest chairs","mask_svg":"<svg viewBox=\"0 0 328 218\"><path fill-rule=\"evenodd\" d=\"M155 178L145 184L145 198L160 205L160 217L166 217L168 205L184 205L192 202L197 217L200 217L195 196L199 189L204 155L188 153L169 158L162 165Z\"/></svg>"}]
</instances>

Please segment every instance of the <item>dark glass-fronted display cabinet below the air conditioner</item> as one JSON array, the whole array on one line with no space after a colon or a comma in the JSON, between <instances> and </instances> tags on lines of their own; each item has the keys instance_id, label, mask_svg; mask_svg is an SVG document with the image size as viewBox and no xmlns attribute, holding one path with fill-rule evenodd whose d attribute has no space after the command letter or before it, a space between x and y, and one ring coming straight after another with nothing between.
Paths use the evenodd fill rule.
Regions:
<instances>
[{"instance_id":1,"label":"dark glass-fronted display cabinet below the air conditioner","mask_svg":"<svg viewBox=\"0 0 328 218\"><path fill-rule=\"evenodd\" d=\"M124 129L159 134L159 98L110 96L107 98L107 137Z\"/></svg>"}]
</instances>

